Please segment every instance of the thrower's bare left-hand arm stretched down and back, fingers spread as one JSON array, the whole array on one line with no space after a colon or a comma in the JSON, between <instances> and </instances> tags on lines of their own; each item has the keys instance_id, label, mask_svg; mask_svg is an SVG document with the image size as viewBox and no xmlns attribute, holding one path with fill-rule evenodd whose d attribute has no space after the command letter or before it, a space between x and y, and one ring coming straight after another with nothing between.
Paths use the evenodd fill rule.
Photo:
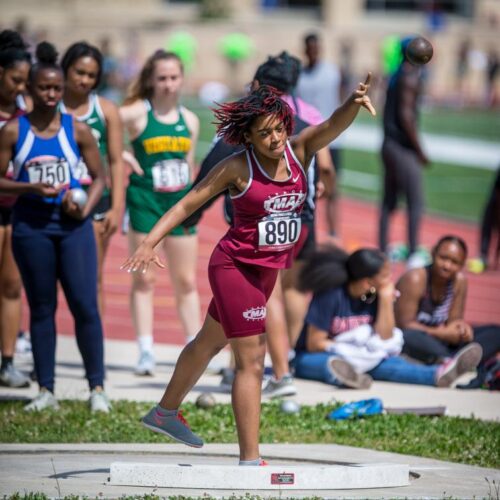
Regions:
<instances>
[{"instance_id":1,"label":"thrower's bare left-hand arm stretched down and back, fingers spread","mask_svg":"<svg viewBox=\"0 0 500 500\"><path fill-rule=\"evenodd\" d=\"M135 253L121 266L121 269L129 272L146 272L149 264L153 262L159 267L165 267L154 251L156 245L174 227L178 226L208 200L228 189L231 185L240 184L240 171L240 162L234 157L221 162L203 181L189 191L184 198L158 220Z\"/></svg>"}]
</instances>

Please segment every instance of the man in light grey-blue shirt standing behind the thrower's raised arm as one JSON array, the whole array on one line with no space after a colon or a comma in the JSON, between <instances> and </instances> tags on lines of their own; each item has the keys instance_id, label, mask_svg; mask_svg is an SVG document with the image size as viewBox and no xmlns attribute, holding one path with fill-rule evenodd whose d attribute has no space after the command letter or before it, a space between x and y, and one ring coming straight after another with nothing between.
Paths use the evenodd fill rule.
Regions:
<instances>
[{"instance_id":1,"label":"man in light grey-blue shirt standing behind the thrower's raised arm","mask_svg":"<svg viewBox=\"0 0 500 500\"><path fill-rule=\"evenodd\" d=\"M340 71L335 64L321 59L321 43L317 34L311 33L304 38L304 51L306 65L300 73L296 95L318 109L323 120L326 120L340 105ZM338 176L341 162L339 141L333 141L329 145L329 148L337 175L332 177L332 185L327 188L326 221L329 235L335 237L338 232L338 190L336 177Z\"/></svg>"}]
</instances>

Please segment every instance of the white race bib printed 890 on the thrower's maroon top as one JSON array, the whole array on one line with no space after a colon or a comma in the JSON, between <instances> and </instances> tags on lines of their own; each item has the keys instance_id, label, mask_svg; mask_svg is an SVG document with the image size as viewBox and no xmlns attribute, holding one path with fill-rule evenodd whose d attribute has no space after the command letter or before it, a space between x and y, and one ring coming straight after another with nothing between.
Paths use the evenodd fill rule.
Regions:
<instances>
[{"instance_id":1,"label":"white race bib printed 890 on the thrower's maroon top","mask_svg":"<svg viewBox=\"0 0 500 500\"><path fill-rule=\"evenodd\" d=\"M302 221L297 214L272 214L259 222L259 250L286 250L297 243Z\"/></svg>"}]
</instances>

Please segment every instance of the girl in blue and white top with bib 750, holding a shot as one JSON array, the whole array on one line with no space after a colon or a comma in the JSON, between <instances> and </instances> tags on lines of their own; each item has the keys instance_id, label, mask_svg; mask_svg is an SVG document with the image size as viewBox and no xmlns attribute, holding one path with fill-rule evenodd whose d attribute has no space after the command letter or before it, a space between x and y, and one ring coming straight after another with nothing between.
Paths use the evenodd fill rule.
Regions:
<instances>
[{"instance_id":1,"label":"girl in blue and white top with bib 750, holding a shot","mask_svg":"<svg viewBox=\"0 0 500 500\"><path fill-rule=\"evenodd\" d=\"M103 392L101 319L97 308L96 247L88 218L104 188L104 170L90 130L60 113L64 79L57 53L46 42L37 47L29 73L33 111L5 125L0 133L0 175L9 161L14 178L0 178L0 191L18 195L12 214L12 247L30 307L30 331L40 393L26 410L58 407L54 391L55 313L60 281L75 320L78 347L91 389L93 411L109 411ZM88 201L80 207L70 189L82 156L93 177Z\"/></svg>"}]
</instances>

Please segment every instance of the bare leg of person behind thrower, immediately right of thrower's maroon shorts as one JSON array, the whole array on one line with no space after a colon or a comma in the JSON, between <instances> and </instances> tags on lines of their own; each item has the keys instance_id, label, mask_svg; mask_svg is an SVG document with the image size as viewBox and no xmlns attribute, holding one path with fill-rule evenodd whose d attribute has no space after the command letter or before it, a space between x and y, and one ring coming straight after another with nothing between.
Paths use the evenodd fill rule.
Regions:
<instances>
[{"instance_id":1,"label":"bare leg of person behind thrower, immediately right of thrower's maroon shorts","mask_svg":"<svg viewBox=\"0 0 500 500\"><path fill-rule=\"evenodd\" d=\"M267 347L273 364L274 376L280 380L289 372L288 368L288 335L283 306L281 280L278 277L273 293L267 301L266 330Z\"/></svg>"}]
</instances>

